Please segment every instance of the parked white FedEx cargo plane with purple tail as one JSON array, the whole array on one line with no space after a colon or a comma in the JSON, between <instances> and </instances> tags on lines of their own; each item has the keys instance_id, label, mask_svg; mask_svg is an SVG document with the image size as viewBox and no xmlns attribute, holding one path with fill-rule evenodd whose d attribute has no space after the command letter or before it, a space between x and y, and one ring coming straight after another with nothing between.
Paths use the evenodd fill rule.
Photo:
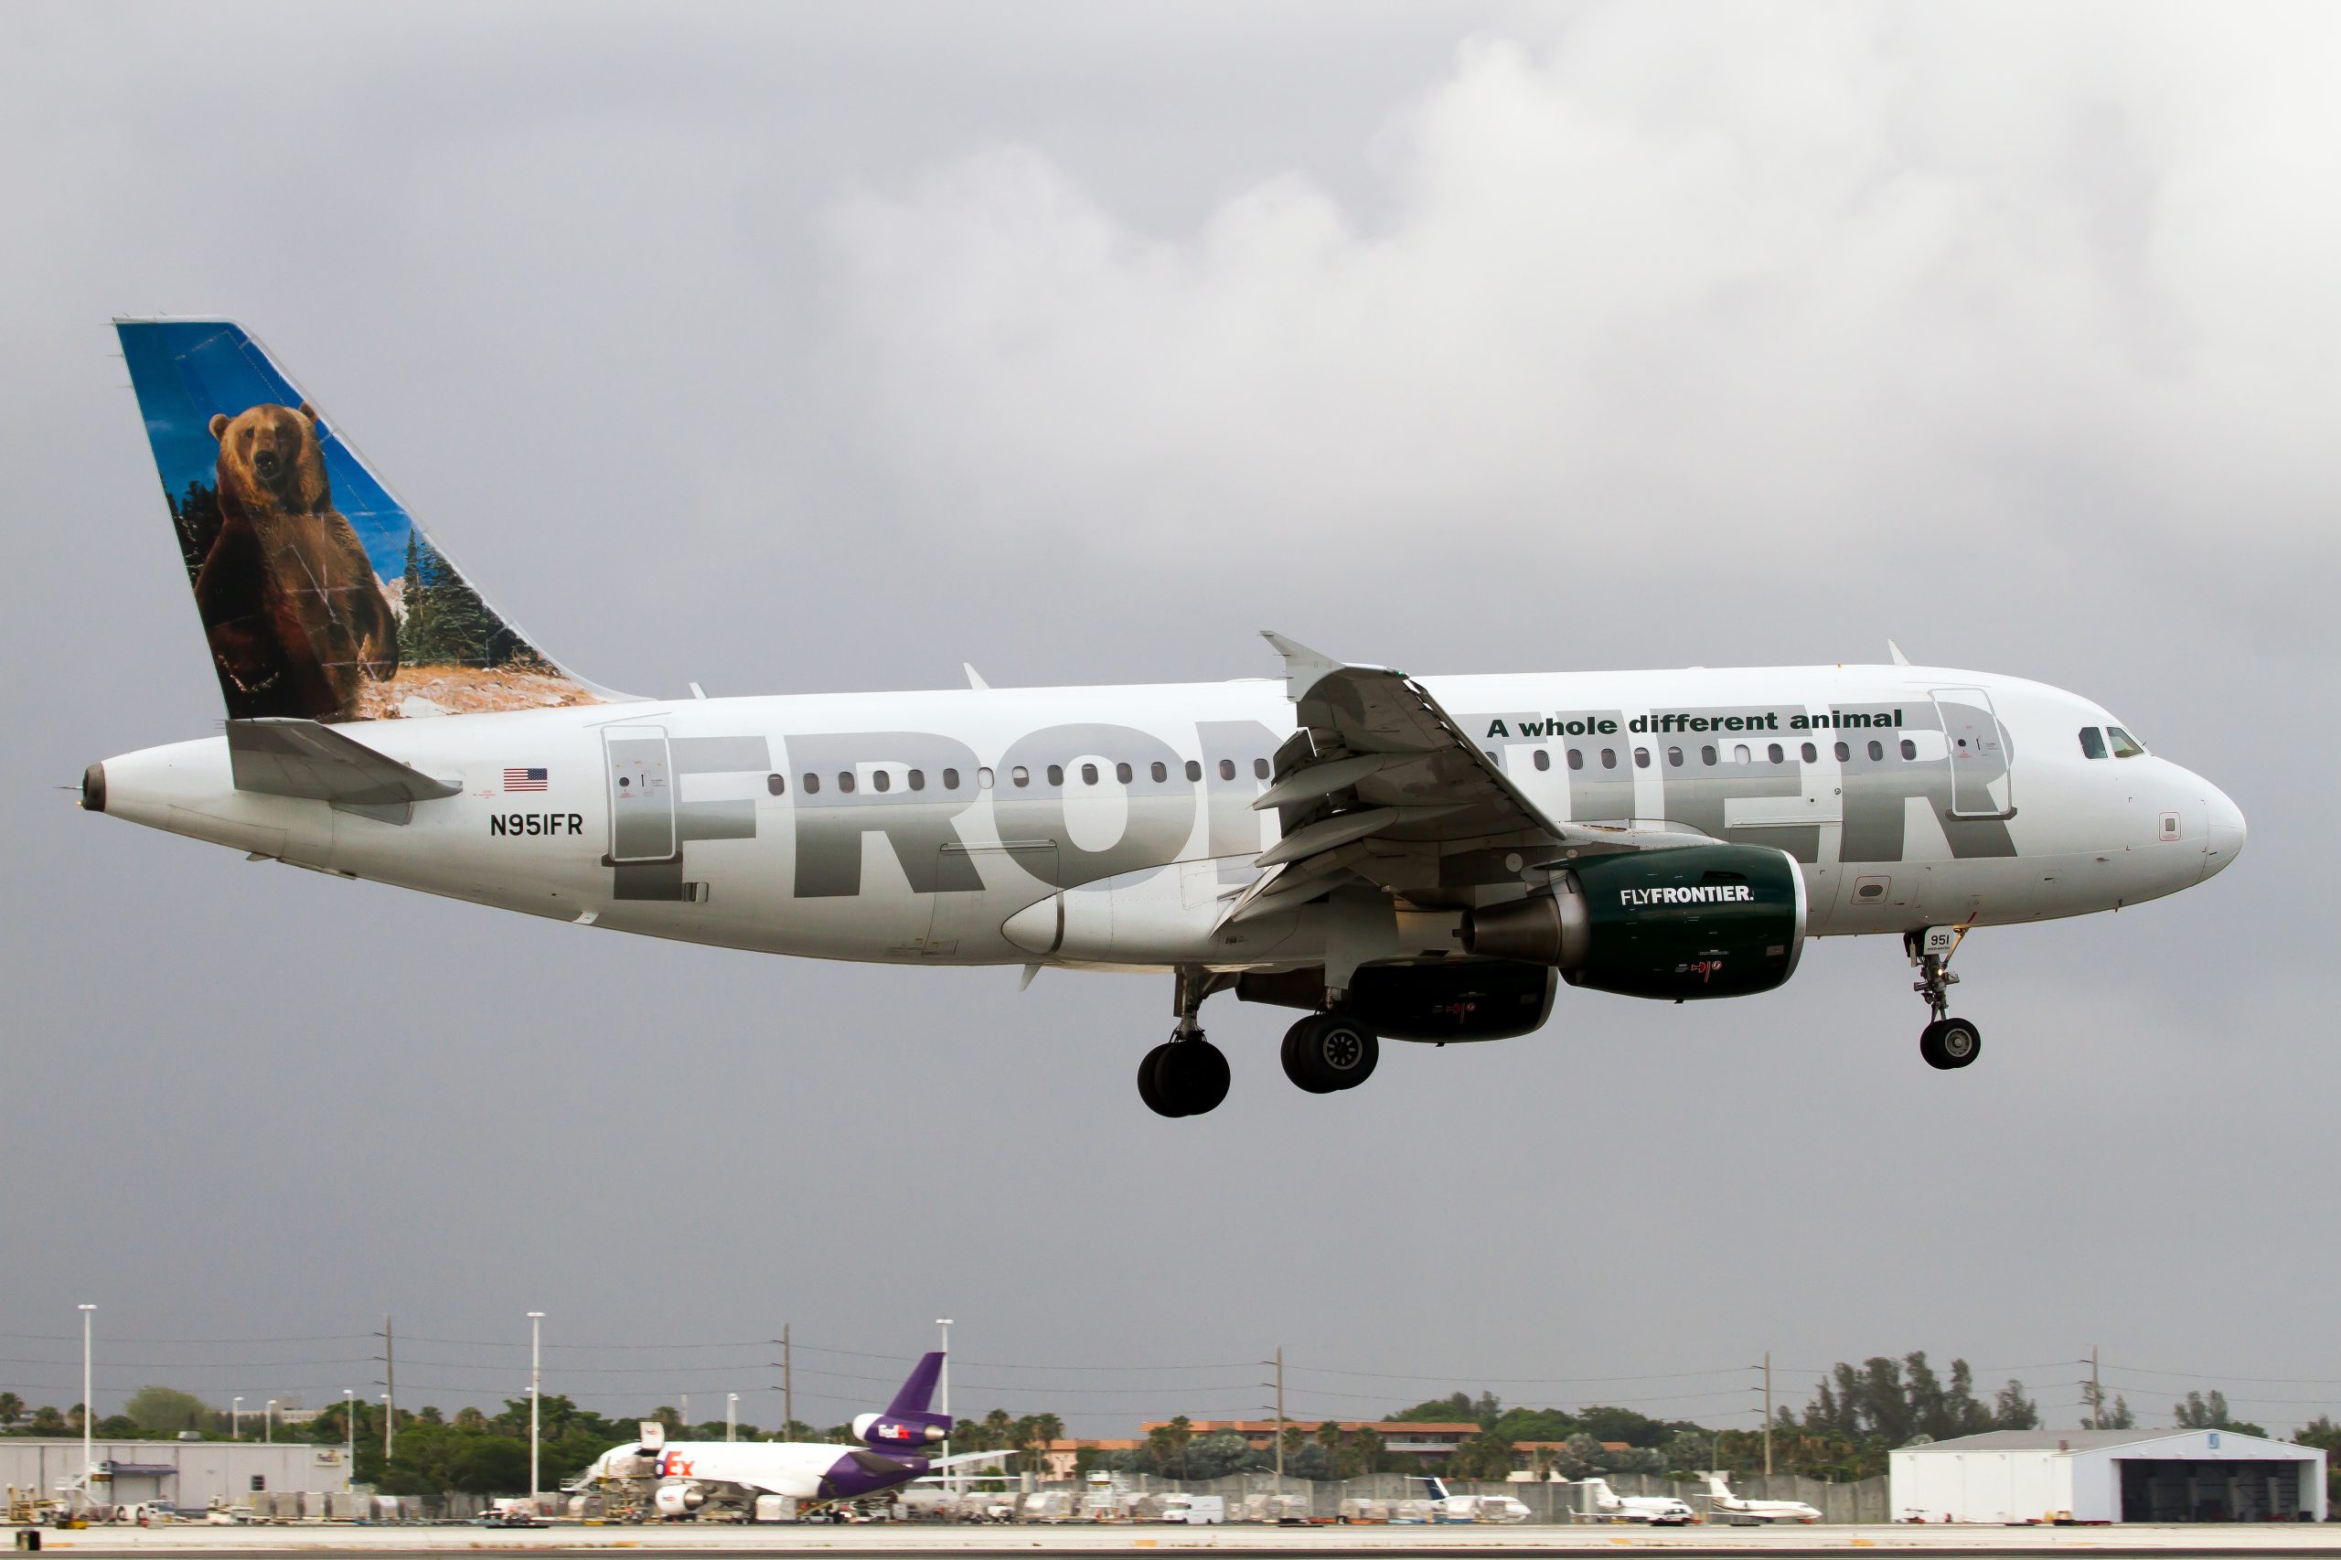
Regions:
<instances>
[{"instance_id":1,"label":"parked white FedEx cargo plane with purple tail","mask_svg":"<svg viewBox=\"0 0 2341 1560\"><path fill-rule=\"evenodd\" d=\"M655 1424L646 1424L641 1441L595 1457L576 1487L655 1480L653 1511L684 1518L709 1501L754 1506L758 1494L784 1494L803 1506L852 1501L927 1478L936 1469L1007 1457L1009 1452L927 1457L915 1450L950 1436L950 1419L927 1412L941 1370L941 1349L922 1354L885 1412L854 1417L854 1438L864 1443L857 1448L822 1441L665 1441Z\"/></svg>"}]
</instances>

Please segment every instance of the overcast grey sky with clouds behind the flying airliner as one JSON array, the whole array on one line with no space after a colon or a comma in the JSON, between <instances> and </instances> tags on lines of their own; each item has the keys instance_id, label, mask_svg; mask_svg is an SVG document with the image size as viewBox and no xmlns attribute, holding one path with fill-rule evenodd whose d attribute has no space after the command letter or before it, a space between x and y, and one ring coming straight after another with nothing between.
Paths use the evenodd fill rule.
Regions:
<instances>
[{"instance_id":1,"label":"overcast grey sky with clouds behind the flying airliner","mask_svg":"<svg viewBox=\"0 0 2341 1560\"><path fill-rule=\"evenodd\" d=\"M94 1300L105 1340L543 1309L873 1356L950 1314L957 1408L1089 1434L1250 1415L1276 1345L1306 1417L1749 1424L1751 1377L1678 1373L1929 1349L2072 1424L2048 1361L2093 1342L2147 1422L2341 1410L2336 68L2318 5L7 7L0 1387L70 1403L16 1361ZM220 719L110 356L140 312L246 321L620 689L1894 635L2105 700L2252 846L1976 935L1966 1073L1863 939L1334 1099L1217 998L1234 1094L1163 1122L1166 981L623 939L77 815L87 761ZM368 1352L108 1342L101 1401L321 1401ZM405 1403L527 1384L400 1354ZM548 1389L775 1422L766 1359ZM894 1375L798 1361L812 1419Z\"/></svg>"}]
</instances>

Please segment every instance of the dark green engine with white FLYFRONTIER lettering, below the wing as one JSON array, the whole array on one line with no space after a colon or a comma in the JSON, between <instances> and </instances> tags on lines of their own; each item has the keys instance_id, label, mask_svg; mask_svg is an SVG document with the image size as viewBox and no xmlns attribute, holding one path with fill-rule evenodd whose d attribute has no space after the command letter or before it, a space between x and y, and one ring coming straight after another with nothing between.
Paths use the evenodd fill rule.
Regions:
<instances>
[{"instance_id":1,"label":"dark green engine with white FLYFRONTIER lettering, below the wing","mask_svg":"<svg viewBox=\"0 0 2341 1560\"><path fill-rule=\"evenodd\" d=\"M1681 1003L1772 991L1805 949L1805 876L1786 850L1625 850L1571 862L1552 888L1465 916L1465 951Z\"/></svg>"}]
</instances>

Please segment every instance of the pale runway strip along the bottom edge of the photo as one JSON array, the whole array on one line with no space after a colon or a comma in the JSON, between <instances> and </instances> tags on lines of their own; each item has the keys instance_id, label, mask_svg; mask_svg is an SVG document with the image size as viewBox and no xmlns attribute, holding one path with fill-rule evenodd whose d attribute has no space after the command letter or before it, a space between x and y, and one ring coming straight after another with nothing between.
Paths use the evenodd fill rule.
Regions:
<instances>
[{"instance_id":1,"label":"pale runway strip along the bottom edge of the photo","mask_svg":"<svg viewBox=\"0 0 2341 1560\"><path fill-rule=\"evenodd\" d=\"M824 1560L883 1560L887 1555L1131 1555L1161 1551L1210 1551L1227 1555L1306 1555L1339 1560L1362 1555L1472 1558L1489 1553L1615 1555L1662 1551L1667 1555L1856 1555L1903 1551L1920 1555L2336 1555L2341 1525L2233 1525L2233 1527L1688 1527L1648 1530L1611 1525L1564 1527L1098 1527L1098 1525L871 1525L871 1527L592 1527L557 1525L529 1530L496 1527L91 1527L42 1532L42 1553L77 1560L101 1555L480 1555L494 1551L606 1553L658 1551L660 1555L822 1555Z\"/></svg>"}]
</instances>

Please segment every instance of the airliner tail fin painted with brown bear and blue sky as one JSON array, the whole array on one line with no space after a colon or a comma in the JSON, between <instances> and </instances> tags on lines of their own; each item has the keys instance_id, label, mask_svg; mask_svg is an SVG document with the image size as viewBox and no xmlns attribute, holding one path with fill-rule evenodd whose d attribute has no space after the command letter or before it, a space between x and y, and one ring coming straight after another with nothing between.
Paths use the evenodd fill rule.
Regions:
<instances>
[{"instance_id":1,"label":"airliner tail fin painted with brown bear and blue sky","mask_svg":"<svg viewBox=\"0 0 2341 1560\"><path fill-rule=\"evenodd\" d=\"M232 719L625 698L496 611L243 326L115 333Z\"/></svg>"}]
</instances>

